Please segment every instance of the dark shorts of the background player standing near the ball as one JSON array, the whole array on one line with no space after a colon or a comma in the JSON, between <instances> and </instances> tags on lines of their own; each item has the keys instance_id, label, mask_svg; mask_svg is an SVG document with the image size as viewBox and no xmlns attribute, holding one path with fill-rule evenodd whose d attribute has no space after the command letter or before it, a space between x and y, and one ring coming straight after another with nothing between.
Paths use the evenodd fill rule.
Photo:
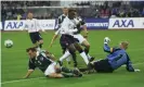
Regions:
<instances>
[{"instance_id":1,"label":"dark shorts of the background player standing near the ball","mask_svg":"<svg viewBox=\"0 0 144 87\"><path fill-rule=\"evenodd\" d=\"M29 33L29 37L30 37L32 44L36 44L37 41L42 39L42 37L41 37L39 32Z\"/></svg>"}]
</instances>

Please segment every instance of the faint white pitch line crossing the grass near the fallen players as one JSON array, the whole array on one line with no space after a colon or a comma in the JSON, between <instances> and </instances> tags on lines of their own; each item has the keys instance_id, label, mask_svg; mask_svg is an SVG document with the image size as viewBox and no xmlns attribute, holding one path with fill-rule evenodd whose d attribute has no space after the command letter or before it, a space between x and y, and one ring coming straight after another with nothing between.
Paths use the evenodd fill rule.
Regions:
<instances>
[{"instance_id":1,"label":"faint white pitch line crossing the grass near the fallen players","mask_svg":"<svg viewBox=\"0 0 144 87\"><path fill-rule=\"evenodd\" d=\"M144 64L144 62L142 62L142 63L135 63L135 64L132 64L132 65L140 65L140 64ZM122 65L122 66L126 66L126 65ZM1 85L3 85L3 84L10 84L10 83L25 82L25 80L31 80L31 79L41 79L41 78L45 78L45 77L36 77L36 78L28 78L28 79L18 79L18 80L3 82L3 83L1 83Z\"/></svg>"}]
</instances>

